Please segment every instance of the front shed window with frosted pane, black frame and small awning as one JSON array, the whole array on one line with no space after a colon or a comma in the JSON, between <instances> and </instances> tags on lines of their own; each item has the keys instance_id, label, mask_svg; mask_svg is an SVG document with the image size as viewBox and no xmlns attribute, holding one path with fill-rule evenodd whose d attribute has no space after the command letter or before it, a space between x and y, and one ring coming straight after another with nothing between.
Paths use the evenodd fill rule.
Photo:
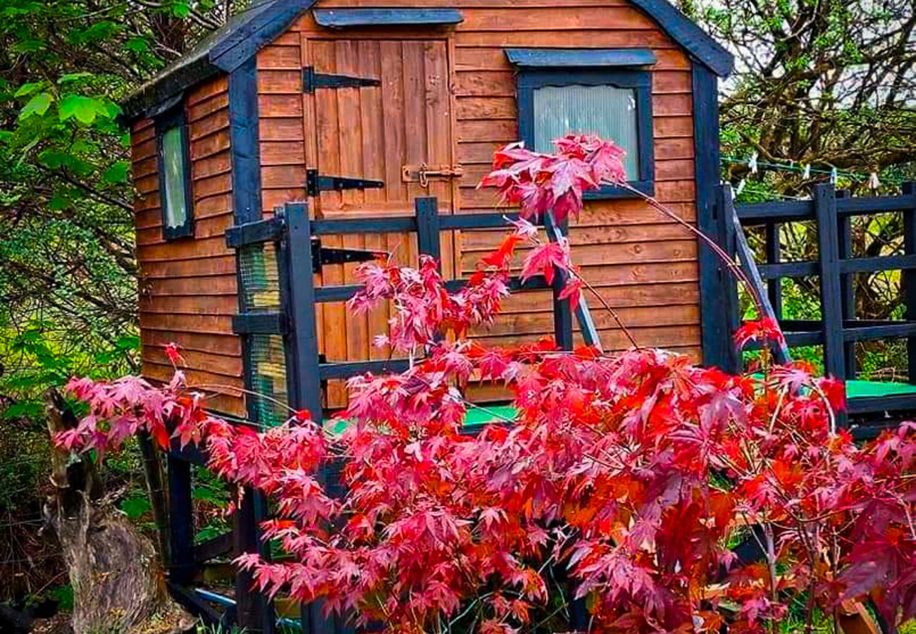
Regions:
<instances>
[{"instance_id":1,"label":"front shed window with frosted pane, black frame and small awning","mask_svg":"<svg viewBox=\"0 0 916 634\"><path fill-rule=\"evenodd\" d=\"M519 55L522 51L529 56ZM551 141L567 134L594 134L612 140L627 151L624 168L629 184L644 193L654 193L650 71L629 66L632 51L627 51L626 58L608 50L571 55L575 51L548 54L540 49L537 57L530 55L532 52L509 50L509 60L518 65L518 126L525 144L551 152ZM646 53L654 60L651 51ZM647 58L637 60L645 63ZM574 66L562 67L566 64ZM586 198L626 195L627 191L608 186L586 193Z\"/></svg>"}]
</instances>

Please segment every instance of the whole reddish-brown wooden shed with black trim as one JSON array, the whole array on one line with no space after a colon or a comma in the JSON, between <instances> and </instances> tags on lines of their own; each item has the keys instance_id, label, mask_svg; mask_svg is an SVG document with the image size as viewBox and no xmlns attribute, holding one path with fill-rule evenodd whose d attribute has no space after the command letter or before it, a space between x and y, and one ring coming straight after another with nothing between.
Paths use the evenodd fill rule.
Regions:
<instances>
[{"instance_id":1,"label":"whole reddish-brown wooden shed with black trim","mask_svg":"<svg viewBox=\"0 0 916 634\"><path fill-rule=\"evenodd\" d=\"M283 329L255 319L289 310L276 292L284 273L276 251L236 253L227 228L292 201L325 220L413 215L427 196L442 216L492 213L493 191L476 184L494 150L518 139L546 150L565 132L613 138L636 187L713 227L717 80L731 66L667 0L256 2L125 104L144 375L170 377L163 345L176 342L190 383L219 393L213 410L271 421L270 401L246 403L243 390L285 401L298 376ZM442 232L446 277L474 270L502 233ZM610 189L569 235L639 344L720 361L717 271L691 235ZM324 235L321 246L344 255L315 274L320 287L352 281L346 249L410 263L419 248L406 232ZM314 311L328 362L387 356L372 346L387 315L354 318L342 301ZM606 349L627 347L609 316L594 319ZM477 334L518 341L551 333L551 320L549 290L522 292ZM326 407L344 405L340 380L325 392Z\"/></svg>"}]
</instances>

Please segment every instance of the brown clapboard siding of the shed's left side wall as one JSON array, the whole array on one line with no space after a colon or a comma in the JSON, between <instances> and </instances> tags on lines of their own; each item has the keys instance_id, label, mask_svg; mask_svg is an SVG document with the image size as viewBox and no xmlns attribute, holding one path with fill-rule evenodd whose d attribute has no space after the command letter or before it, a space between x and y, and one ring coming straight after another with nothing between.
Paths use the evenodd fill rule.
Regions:
<instances>
[{"instance_id":1,"label":"brown clapboard siding of the shed's left side wall","mask_svg":"<svg viewBox=\"0 0 916 634\"><path fill-rule=\"evenodd\" d=\"M234 224L225 78L191 91L184 106L191 138L193 238L163 239L155 126L145 119L132 128L143 374L168 380L172 369L164 346L175 342L189 384L213 392L208 407L244 415L241 345L232 332L238 309L235 259L224 238L226 227Z\"/></svg>"}]
</instances>

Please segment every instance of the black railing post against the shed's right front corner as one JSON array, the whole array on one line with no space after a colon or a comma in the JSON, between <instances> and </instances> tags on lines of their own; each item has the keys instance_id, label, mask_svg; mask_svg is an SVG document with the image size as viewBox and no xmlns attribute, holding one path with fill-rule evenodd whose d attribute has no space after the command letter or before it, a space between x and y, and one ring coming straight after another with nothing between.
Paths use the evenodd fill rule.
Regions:
<instances>
[{"instance_id":1,"label":"black railing post against the shed's right front corner","mask_svg":"<svg viewBox=\"0 0 916 634\"><path fill-rule=\"evenodd\" d=\"M732 220L735 213L735 201L732 196L731 185L720 185L715 191L715 220L717 223L719 246L735 262L737 252L736 229ZM736 350L732 336L741 321L740 307L738 305L737 279L735 273L728 269L725 262L718 266L719 288L722 290L722 319L725 332L722 333L722 364L726 372L741 371L741 357Z\"/></svg>"}]
</instances>

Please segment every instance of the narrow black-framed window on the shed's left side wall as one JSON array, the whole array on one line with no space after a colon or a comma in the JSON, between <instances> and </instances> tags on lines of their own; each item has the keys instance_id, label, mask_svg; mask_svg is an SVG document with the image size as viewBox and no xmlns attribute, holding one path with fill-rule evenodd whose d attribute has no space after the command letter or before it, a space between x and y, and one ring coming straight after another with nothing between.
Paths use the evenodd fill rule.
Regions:
<instances>
[{"instance_id":1,"label":"narrow black-framed window on the shed's left side wall","mask_svg":"<svg viewBox=\"0 0 916 634\"><path fill-rule=\"evenodd\" d=\"M194 235L188 126L180 107L158 118L156 135L162 235L167 240Z\"/></svg>"}]
</instances>

